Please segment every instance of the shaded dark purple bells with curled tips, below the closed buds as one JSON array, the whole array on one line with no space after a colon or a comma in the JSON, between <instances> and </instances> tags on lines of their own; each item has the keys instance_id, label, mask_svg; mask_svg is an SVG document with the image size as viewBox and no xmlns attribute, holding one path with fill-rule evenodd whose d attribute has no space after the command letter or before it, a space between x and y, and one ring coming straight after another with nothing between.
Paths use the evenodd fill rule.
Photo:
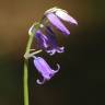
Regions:
<instances>
[{"instance_id":1,"label":"shaded dark purple bells with curled tips, below the closed buds","mask_svg":"<svg viewBox=\"0 0 105 105\"><path fill-rule=\"evenodd\" d=\"M58 46L56 34L49 26L46 26L46 35L38 30L35 34L35 38L38 43L38 47L44 49L50 56L55 55L56 52L65 51L65 47Z\"/></svg>"}]
</instances>

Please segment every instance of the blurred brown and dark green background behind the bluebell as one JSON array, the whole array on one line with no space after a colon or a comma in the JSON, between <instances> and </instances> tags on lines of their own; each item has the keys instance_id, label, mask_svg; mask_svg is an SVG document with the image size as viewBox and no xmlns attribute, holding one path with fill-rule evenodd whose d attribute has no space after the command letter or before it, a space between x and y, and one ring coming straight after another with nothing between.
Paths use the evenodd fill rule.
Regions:
<instances>
[{"instance_id":1,"label":"blurred brown and dark green background behind the bluebell","mask_svg":"<svg viewBox=\"0 0 105 105\"><path fill-rule=\"evenodd\" d=\"M52 80L37 85L30 61L30 105L105 104L105 0L0 0L0 105L23 105L27 31L52 7L67 10L79 25L68 25L65 54L51 60L44 54L50 65L61 65Z\"/></svg>"}]
</instances>

